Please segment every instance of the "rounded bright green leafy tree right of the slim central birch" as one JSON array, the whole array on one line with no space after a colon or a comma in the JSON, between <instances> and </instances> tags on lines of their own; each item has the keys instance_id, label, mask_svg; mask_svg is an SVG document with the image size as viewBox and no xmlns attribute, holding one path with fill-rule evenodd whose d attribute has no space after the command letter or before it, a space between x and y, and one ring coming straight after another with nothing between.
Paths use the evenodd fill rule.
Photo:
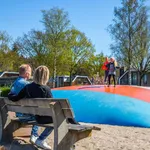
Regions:
<instances>
[{"instance_id":1,"label":"rounded bright green leafy tree right of the slim central birch","mask_svg":"<svg viewBox=\"0 0 150 150\"><path fill-rule=\"evenodd\" d=\"M72 29L70 31L69 39L67 39L67 41L68 44L66 49L69 49L69 51L67 55L68 61L66 61L66 63L68 64L71 85L72 74L76 74L81 68L83 69L83 66L81 65L88 61L95 52L95 49L92 42L85 34L77 29Z\"/></svg>"}]
</instances>

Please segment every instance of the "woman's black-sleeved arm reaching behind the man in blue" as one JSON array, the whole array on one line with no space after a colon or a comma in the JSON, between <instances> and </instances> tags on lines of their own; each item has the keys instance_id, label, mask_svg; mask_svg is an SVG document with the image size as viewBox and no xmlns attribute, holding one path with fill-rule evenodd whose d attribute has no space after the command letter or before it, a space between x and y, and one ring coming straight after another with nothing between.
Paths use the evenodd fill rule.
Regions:
<instances>
[{"instance_id":1,"label":"woman's black-sleeved arm reaching behind the man in blue","mask_svg":"<svg viewBox=\"0 0 150 150\"><path fill-rule=\"evenodd\" d=\"M18 95L15 95L13 93L9 93L8 94L8 99L11 100L11 101L18 101L22 98L24 98L26 96L26 87L24 87L19 93Z\"/></svg>"}]
</instances>

